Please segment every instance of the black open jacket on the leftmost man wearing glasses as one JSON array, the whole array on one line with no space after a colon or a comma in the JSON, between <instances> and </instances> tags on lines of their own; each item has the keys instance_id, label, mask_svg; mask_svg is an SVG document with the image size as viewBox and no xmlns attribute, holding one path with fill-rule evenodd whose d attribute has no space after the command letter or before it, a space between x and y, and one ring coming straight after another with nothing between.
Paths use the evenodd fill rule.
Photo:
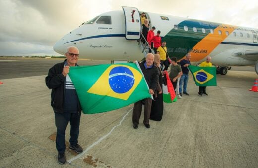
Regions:
<instances>
[{"instance_id":1,"label":"black open jacket on the leftmost man wearing glasses","mask_svg":"<svg viewBox=\"0 0 258 168\"><path fill-rule=\"evenodd\" d=\"M66 60L65 60L66 61ZM49 69L48 76L46 77L46 85L51 91L51 106L55 112L64 112L64 97L65 97L65 80L66 77L62 74L65 67L65 61L55 64ZM79 112L81 112L81 105L79 104Z\"/></svg>"}]
</instances>

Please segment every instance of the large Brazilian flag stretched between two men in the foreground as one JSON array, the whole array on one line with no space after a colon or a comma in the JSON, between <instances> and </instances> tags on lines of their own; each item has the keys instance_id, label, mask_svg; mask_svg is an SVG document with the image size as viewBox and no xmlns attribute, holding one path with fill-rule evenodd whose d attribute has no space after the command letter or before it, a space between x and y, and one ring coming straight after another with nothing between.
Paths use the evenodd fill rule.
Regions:
<instances>
[{"instance_id":1,"label":"large Brazilian flag stretched between two men in the foreground","mask_svg":"<svg viewBox=\"0 0 258 168\"><path fill-rule=\"evenodd\" d=\"M111 111L151 98L135 63L70 67L69 76L84 114Z\"/></svg>"}]
</instances>

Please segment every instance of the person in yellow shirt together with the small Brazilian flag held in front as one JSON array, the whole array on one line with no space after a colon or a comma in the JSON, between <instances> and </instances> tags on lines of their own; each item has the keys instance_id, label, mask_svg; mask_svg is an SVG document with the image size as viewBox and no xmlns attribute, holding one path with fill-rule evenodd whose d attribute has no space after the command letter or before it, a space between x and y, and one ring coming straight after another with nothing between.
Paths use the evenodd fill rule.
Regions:
<instances>
[{"instance_id":1,"label":"person in yellow shirt together with the small Brazilian flag held in front","mask_svg":"<svg viewBox=\"0 0 258 168\"><path fill-rule=\"evenodd\" d=\"M190 65L188 68L191 71L195 84L199 86L199 95L208 95L206 86L217 86L216 67L212 66L210 62L211 57L208 56L206 61L199 64L199 66Z\"/></svg>"}]
</instances>

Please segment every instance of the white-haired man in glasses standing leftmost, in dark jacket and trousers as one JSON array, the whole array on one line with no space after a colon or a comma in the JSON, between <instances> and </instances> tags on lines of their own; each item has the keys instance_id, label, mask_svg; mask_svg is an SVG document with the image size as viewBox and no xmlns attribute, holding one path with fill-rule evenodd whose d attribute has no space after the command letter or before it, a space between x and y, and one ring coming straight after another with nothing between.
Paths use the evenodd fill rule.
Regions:
<instances>
[{"instance_id":1,"label":"white-haired man in glasses standing leftmost, in dark jacket and trousers","mask_svg":"<svg viewBox=\"0 0 258 168\"><path fill-rule=\"evenodd\" d=\"M58 151L58 163L65 164L65 130L70 122L69 148L76 153L83 149L78 144L81 105L75 87L68 75L70 67L78 66L79 50L75 46L69 46L65 53L67 59L49 69L46 77L46 85L51 91L51 106L55 114L57 127L56 148Z\"/></svg>"}]
</instances>

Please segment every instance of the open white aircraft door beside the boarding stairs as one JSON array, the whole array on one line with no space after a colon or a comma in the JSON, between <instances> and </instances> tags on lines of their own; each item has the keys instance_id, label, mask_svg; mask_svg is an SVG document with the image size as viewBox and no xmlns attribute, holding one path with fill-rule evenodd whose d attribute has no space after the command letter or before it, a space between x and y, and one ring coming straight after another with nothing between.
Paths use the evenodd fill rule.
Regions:
<instances>
[{"instance_id":1,"label":"open white aircraft door beside the boarding stairs","mask_svg":"<svg viewBox=\"0 0 258 168\"><path fill-rule=\"evenodd\" d=\"M135 7L122 7L126 23L126 39L139 40L141 35L140 13Z\"/></svg>"}]
</instances>

